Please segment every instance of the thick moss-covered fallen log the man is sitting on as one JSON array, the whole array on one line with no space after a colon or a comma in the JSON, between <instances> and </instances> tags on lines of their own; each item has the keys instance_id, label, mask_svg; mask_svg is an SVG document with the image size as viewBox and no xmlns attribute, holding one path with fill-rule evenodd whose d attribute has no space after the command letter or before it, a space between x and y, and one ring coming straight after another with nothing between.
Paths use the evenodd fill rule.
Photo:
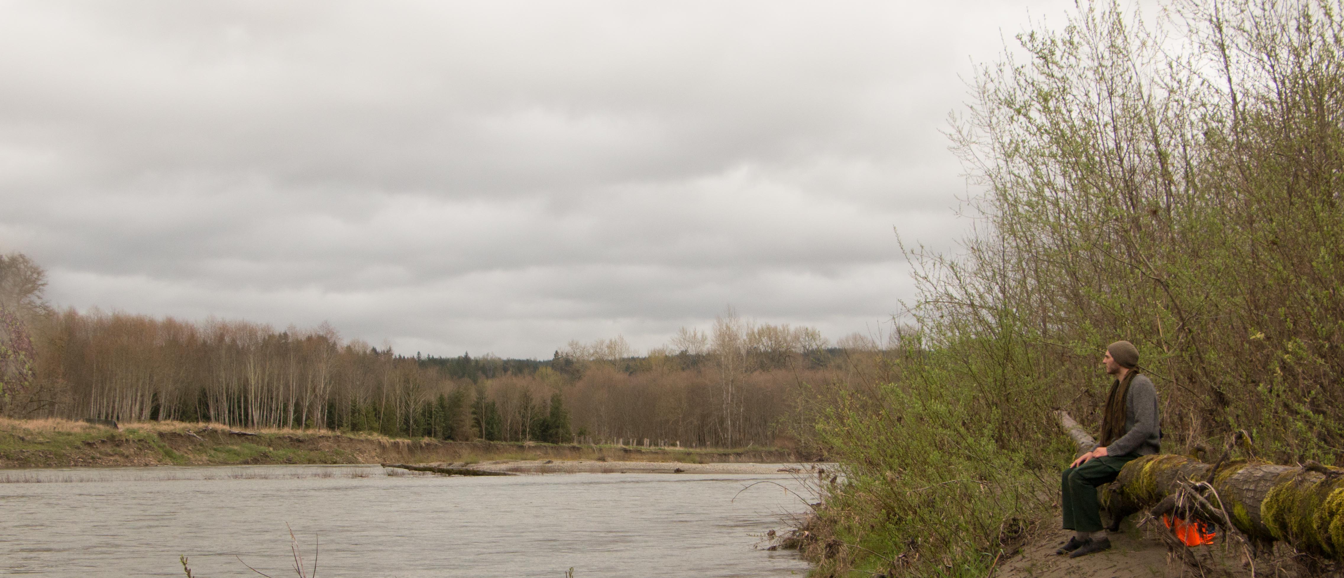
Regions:
<instances>
[{"instance_id":1,"label":"thick moss-covered fallen log the man is sitting on","mask_svg":"<svg viewBox=\"0 0 1344 578\"><path fill-rule=\"evenodd\" d=\"M1095 441L1067 413L1059 425L1079 452ZM1216 468L1216 469L1215 469ZM1207 483L1203 497L1257 547L1285 542L1298 551L1344 561L1344 469L1317 462L1275 465L1254 460L1206 464L1187 456L1144 456L1130 461L1120 477L1101 488L1101 501L1113 520L1159 505L1183 487ZM1222 516L1211 516L1222 518Z\"/></svg>"}]
</instances>

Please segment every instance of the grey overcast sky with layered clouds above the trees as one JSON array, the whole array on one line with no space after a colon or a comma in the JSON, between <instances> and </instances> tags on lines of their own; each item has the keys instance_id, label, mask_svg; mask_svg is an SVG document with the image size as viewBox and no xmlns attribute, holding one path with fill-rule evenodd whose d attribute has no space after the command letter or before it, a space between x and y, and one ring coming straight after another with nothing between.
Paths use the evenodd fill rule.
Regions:
<instances>
[{"instance_id":1,"label":"grey overcast sky with layered clouds above the trees","mask_svg":"<svg viewBox=\"0 0 1344 578\"><path fill-rule=\"evenodd\" d=\"M973 62L1070 1L0 1L0 251L86 311L401 354L871 332Z\"/></svg>"}]
</instances>

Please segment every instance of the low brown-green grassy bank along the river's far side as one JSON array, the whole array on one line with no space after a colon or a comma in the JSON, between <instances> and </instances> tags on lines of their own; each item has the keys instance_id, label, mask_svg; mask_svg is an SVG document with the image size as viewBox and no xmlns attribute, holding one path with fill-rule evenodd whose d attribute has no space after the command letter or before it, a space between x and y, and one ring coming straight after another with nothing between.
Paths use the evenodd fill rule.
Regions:
<instances>
[{"instance_id":1,"label":"low brown-green grassy bank along the river's far side","mask_svg":"<svg viewBox=\"0 0 1344 578\"><path fill-rule=\"evenodd\" d=\"M138 422L120 429L67 419L0 419L0 468L237 464L477 462L487 460L781 462L781 449L661 449L452 442L314 430L238 431L218 423Z\"/></svg>"}]
</instances>

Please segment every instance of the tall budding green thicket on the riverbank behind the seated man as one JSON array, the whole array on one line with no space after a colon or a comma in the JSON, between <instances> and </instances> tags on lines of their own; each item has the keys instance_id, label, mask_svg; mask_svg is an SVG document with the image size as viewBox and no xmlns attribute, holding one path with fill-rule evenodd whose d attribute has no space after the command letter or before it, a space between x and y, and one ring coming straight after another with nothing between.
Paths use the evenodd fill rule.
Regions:
<instances>
[{"instance_id":1,"label":"tall budding green thicket on the riverbank behind the seated man","mask_svg":"<svg viewBox=\"0 0 1344 578\"><path fill-rule=\"evenodd\" d=\"M1052 410L1095 430L1117 339L1164 452L1245 430L1255 461L1344 465L1344 5L1149 16L1083 1L978 70L950 132L978 224L909 249L890 379L818 410L844 476L805 528L817 575L992 573L1048 520L1074 452Z\"/></svg>"}]
</instances>

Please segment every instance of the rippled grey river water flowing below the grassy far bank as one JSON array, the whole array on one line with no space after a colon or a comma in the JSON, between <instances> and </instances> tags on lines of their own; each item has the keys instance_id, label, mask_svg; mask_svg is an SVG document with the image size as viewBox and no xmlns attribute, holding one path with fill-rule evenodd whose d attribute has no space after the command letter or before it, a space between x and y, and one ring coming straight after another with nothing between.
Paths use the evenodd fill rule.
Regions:
<instances>
[{"instance_id":1,"label":"rippled grey river water flowing below the grassy far bank","mask_svg":"<svg viewBox=\"0 0 1344 578\"><path fill-rule=\"evenodd\" d=\"M806 496L788 474L0 470L0 574L181 577L187 555L196 577L294 577L288 523L309 567L317 540L320 577L805 575L796 552L753 547L806 508L742 491L757 481Z\"/></svg>"}]
</instances>

